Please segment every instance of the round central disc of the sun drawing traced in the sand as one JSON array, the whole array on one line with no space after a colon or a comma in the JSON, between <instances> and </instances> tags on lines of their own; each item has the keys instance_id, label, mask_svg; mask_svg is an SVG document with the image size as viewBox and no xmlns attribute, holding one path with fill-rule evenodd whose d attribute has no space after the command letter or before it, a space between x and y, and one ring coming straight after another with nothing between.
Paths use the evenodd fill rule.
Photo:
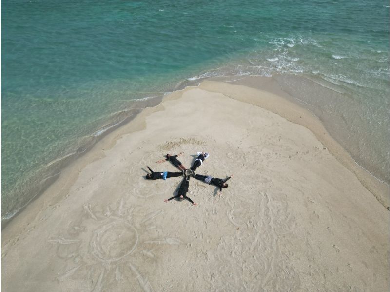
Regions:
<instances>
[{"instance_id":1,"label":"round central disc of the sun drawing traced in the sand","mask_svg":"<svg viewBox=\"0 0 390 292\"><path fill-rule=\"evenodd\" d=\"M115 262L131 254L138 243L138 232L124 221L114 221L95 230L92 253L100 261Z\"/></svg>"}]
</instances>

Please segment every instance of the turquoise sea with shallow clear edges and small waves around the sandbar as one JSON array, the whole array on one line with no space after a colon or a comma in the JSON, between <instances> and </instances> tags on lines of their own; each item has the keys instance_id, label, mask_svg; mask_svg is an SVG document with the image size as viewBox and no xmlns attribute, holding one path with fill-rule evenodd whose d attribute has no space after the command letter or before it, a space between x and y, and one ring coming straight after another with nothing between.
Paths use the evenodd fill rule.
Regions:
<instances>
[{"instance_id":1,"label":"turquoise sea with shallow clear edges and small waves around the sandbar","mask_svg":"<svg viewBox=\"0 0 390 292\"><path fill-rule=\"evenodd\" d=\"M389 182L388 1L8 0L1 55L2 221L132 108L209 76L278 74Z\"/></svg>"}]
</instances>

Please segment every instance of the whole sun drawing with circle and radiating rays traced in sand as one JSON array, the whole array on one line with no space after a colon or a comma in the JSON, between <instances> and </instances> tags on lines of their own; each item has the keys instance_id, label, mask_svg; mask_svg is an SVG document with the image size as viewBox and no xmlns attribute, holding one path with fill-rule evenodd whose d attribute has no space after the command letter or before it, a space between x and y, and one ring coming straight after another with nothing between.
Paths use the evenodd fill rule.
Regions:
<instances>
[{"instance_id":1,"label":"whole sun drawing with circle and radiating rays traced in sand","mask_svg":"<svg viewBox=\"0 0 390 292\"><path fill-rule=\"evenodd\" d=\"M69 225L66 236L49 238L65 262L58 271L59 282L69 281L73 287L82 283L80 290L93 292L108 291L108 287L112 291L153 291L146 273L153 275L157 269L154 251L181 241L159 238L163 232L156 224L162 209L140 216L141 207L125 208L123 199L116 205L115 210L108 207L105 211L84 205L84 215Z\"/></svg>"}]
</instances>

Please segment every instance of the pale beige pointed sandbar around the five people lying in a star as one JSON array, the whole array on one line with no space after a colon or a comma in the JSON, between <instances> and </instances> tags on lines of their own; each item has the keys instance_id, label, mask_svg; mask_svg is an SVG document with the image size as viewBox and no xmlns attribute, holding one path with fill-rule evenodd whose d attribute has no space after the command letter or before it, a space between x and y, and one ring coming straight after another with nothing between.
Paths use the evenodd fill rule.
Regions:
<instances>
[{"instance_id":1,"label":"pale beige pointed sandbar around the five people lying in a star","mask_svg":"<svg viewBox=\"0 0 390 292\"><path fill-rule=\"evenodd\" d=\"M2 231L1 288L387 291L388 210L306 127L237 100L249 93L291 106L206 81L105 137ZM198 150L211 156L197 172L234 173L230 187L191 179L198 206L164 203L180 178L143 169Z\"/></svg>"}]
</instances>

